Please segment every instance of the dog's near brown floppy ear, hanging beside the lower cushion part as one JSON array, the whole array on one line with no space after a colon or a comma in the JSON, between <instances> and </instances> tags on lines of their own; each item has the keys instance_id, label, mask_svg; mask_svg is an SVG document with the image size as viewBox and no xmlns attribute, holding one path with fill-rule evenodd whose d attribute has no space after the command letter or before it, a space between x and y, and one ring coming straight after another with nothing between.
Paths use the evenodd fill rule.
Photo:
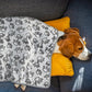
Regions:
<instances>
[{"instance_id":1,"label":"dog's near brown floppy ear, hanging beside the lower cushion part","mask_svg":"<svg viewBox=\"0 0 92 92\"><path fill-rule=\"evenodd\" d=\"M61 54L68 58L73 56L73 44L66 39L59 47Z\"/></svg>"}]
</instances>

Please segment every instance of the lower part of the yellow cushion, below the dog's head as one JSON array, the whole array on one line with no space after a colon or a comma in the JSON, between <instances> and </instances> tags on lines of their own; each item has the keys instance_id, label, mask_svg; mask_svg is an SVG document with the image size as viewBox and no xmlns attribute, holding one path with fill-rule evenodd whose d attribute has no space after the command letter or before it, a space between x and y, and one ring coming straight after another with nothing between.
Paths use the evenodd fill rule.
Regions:
<instances>
[{"instance_id":1,"label":"lower part of the yellow cushion, below the dog's head","mask_svg":"<svg viewBox=\"0 0 92 92\"><path fill-rule=\"evenodd\" d=\"M72 62L61 54L53 54L51 76L73 76Z\"/></svg>"}]
</instances>

